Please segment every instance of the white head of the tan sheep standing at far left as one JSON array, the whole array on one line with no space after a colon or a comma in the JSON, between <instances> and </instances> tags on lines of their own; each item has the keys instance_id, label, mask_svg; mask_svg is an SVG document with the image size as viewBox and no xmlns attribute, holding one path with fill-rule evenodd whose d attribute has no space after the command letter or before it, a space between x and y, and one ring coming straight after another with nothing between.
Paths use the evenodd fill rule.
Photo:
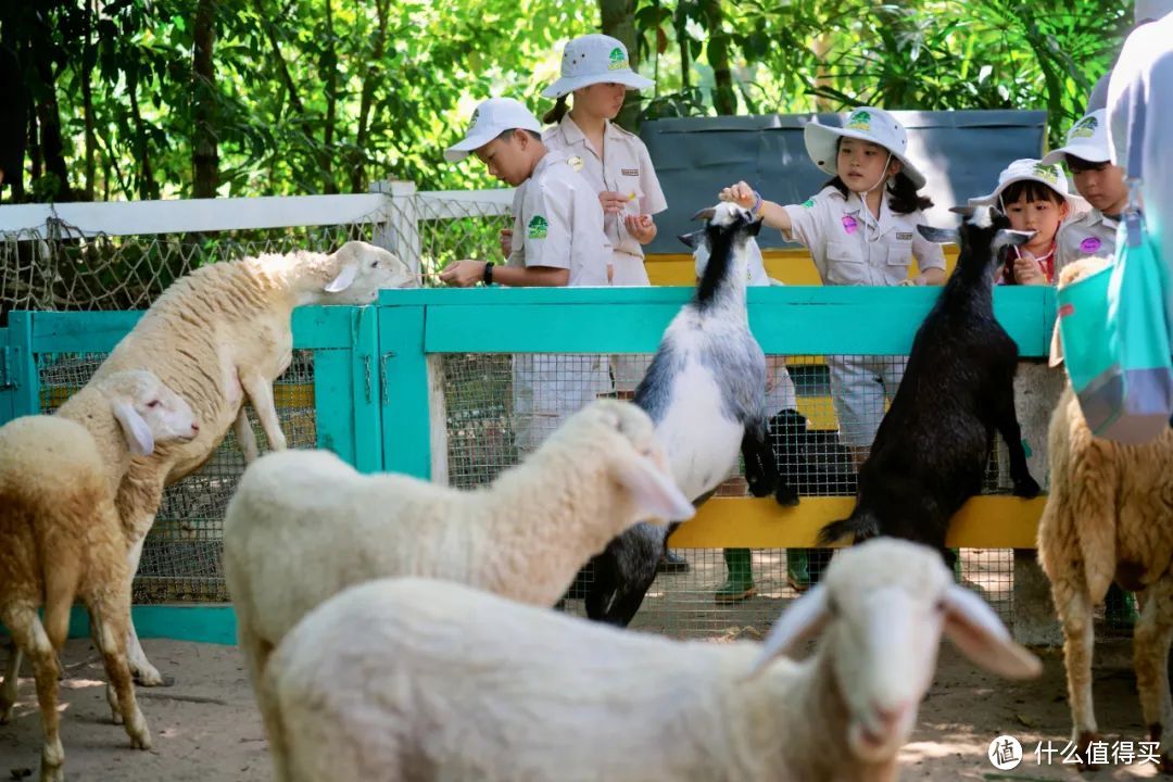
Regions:
<instances>
[{"instance_id":1,"label":"white head of the tan sheep standing at far left","mask_svg":"<svg viewBox=\"0 0 1173 782\"><path fill-rule=\"evenodd\" d=\"M109 400L135 456L149 456L157 443L187 442L199 434L191 406L151 372L116 372L99 381L97 389Z\"/></svg>"}]
</instances>

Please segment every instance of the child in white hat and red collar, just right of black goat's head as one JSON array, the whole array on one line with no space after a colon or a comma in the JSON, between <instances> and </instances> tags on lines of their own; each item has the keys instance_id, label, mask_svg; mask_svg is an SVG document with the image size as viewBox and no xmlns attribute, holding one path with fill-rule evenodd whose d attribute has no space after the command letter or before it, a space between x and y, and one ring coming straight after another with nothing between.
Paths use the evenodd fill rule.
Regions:
<instances>
[{"instance_id":1,"label":"child in white hat and red collar, just right of black goat's head","mask_svg":"<svg viewBox=\"0 0 1173 782\"><path fill-rule=\"evenodd\" d=\"M1033 231L1026 244L1009 247L999 284L1051 285L1056 274L1056 237L1059 226L1086 204L1067 192L1067 178L1058 165L1044 165L1032 157L1012 162L998 174L998 186L985 196L970 198L971 206L992 206L1010 218L1015 231Z\"/></svg>"}]
</instances>

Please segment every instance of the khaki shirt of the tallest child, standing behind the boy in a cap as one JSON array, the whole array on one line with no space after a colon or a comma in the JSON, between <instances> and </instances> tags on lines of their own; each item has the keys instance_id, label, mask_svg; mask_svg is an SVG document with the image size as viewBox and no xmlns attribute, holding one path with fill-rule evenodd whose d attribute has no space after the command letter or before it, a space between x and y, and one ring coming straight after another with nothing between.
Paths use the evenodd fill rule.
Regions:
<instances>
[{"instance_id":1,"label":"khaki shirt of the tallest child, standing behind the boy in a cap","mask_svg":"<svg viewBox=\"0 0 1173 782\"><path fill-rule=\"evenodd\" d=\"M615 250L643 258L643 246L631 238L621 218L626 215L657 215L667 209L667 202L656 178L652 158L639 136L609 121L603 131L603 157L599 158L568 113L562 122L545 129L542 141L549 149L558 150L563 159L571 161L571 165L590 182L596 196L604 190L628 196L635 193L625 212L604 216L603 229Z\"/></svg>"}]
</instances>

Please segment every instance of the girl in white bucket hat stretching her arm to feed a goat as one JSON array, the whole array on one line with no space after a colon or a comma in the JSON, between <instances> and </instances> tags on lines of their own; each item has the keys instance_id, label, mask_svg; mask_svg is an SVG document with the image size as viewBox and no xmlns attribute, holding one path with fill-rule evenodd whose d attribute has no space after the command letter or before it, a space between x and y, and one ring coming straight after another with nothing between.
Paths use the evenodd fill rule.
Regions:
<instances>
[{"instance_id":1,"label":"girl in white bucket hat stretching her arm to feed a goat","mask_svg":"<svg viewBox=\"0 0 1173 782\"><path fill-rule=\"evenodd\" d=\"M883 109L861 107L840 128L809 122L802 135L807 155L833 177L818 195L784 206L738 182L721 190L721 200L738 202L787 240L805 245L823 285L943 284L941 246L916 231L933 202L917 193L925 179L908 157L904 127ZM921 273L910 279L914 257ZM840 437L856 465L867 456L904 365L891 356L827 356ZM808 558L809 550L787 552L795 589L809 584ZM730 563L731 580L734 572Z\"/></svg>"}]
</instances>

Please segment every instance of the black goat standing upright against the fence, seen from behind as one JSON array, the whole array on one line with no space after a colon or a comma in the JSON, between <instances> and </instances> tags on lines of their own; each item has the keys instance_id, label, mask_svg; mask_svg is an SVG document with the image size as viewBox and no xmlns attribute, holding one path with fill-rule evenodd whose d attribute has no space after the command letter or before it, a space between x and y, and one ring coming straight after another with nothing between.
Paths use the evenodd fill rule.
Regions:
<instances>
[{"instance_id":1,"label":"black goat standing upright against the fence, seen from behind","mask_svg":"<svg viewBox=\"0 0 1173 782\"><path fill-rule=\"evenodd\" d=\"M823 526L820 543L889 535L935 546L951 565L945 532L982 489L995 429L1010 451L1013 492L1039 492L1015 415L1018 346L994 317L992 293L1001 250L1032 234L1009 230L988 208L961 213L967 219L957 230L917 226L930 242L961 244L957 268L916 332L896 397L860 468L855 509Z\"/></svg>"}]
</instances>

